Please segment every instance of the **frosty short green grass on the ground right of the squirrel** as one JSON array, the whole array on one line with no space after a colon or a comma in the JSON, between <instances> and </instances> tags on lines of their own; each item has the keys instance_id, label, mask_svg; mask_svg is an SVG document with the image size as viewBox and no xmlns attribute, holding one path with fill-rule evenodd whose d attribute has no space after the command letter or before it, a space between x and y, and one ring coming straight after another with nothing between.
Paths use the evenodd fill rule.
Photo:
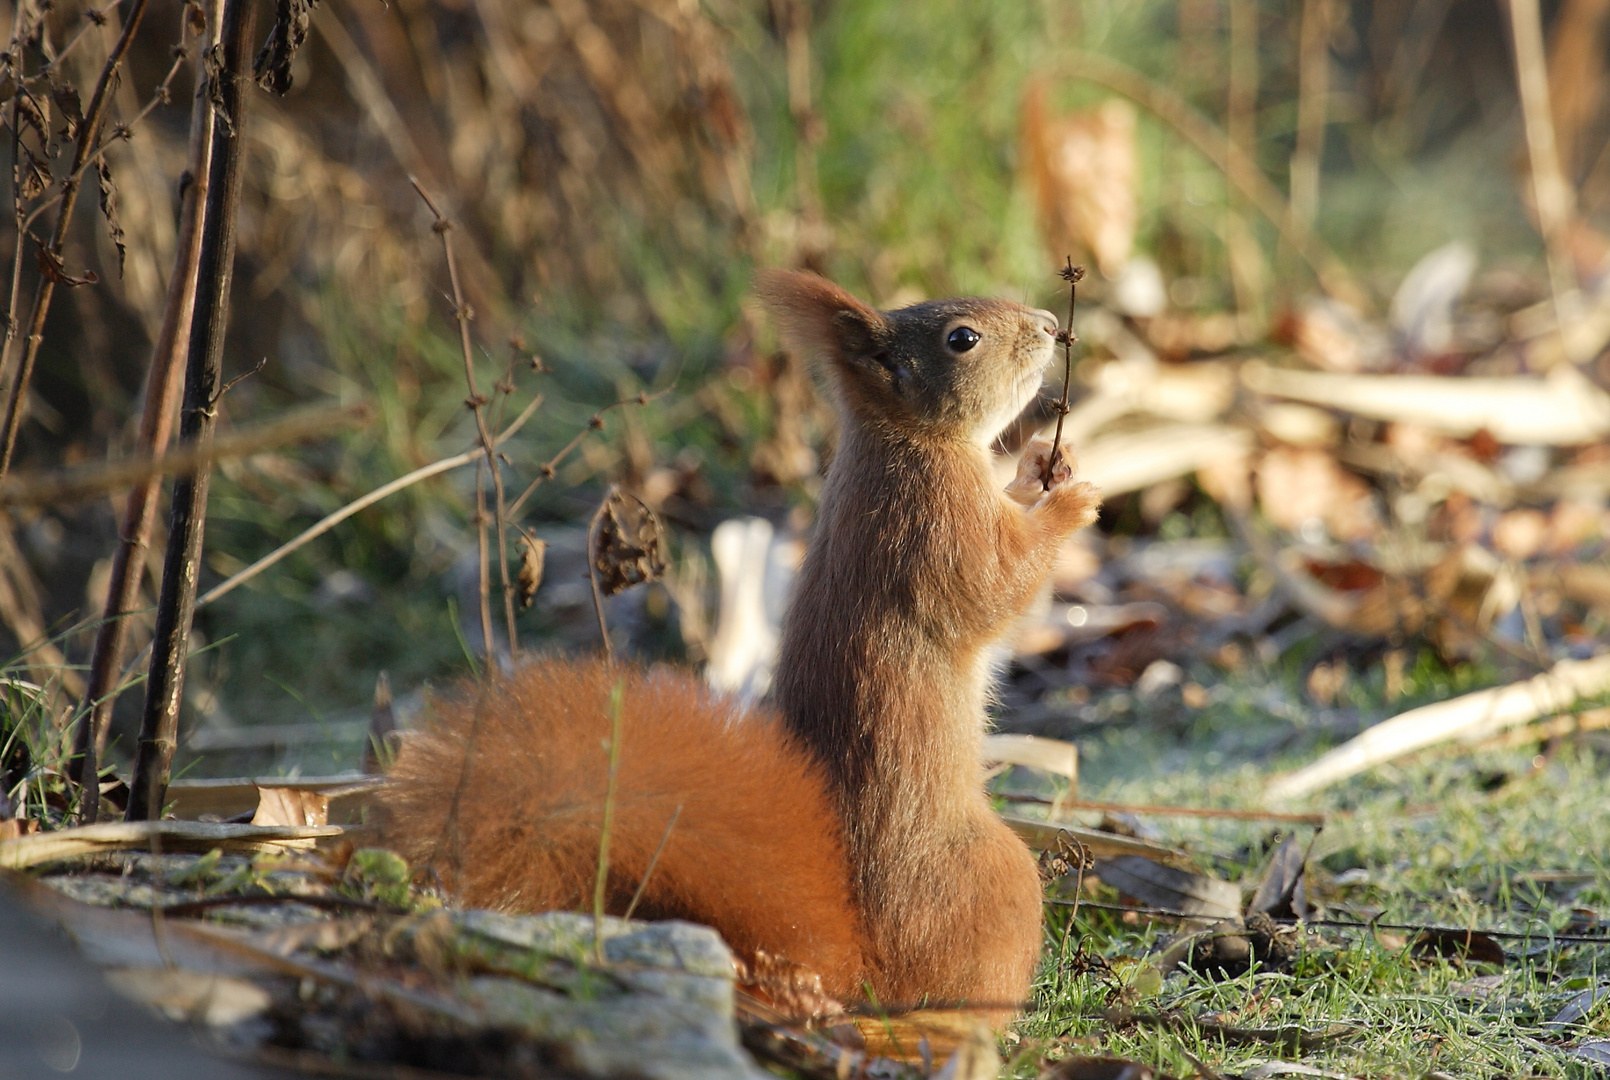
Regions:
<instances>
[{"instance_id":1,"label":"frosty short green grass on the ground right of the squirrel","mask_svg":"<svg viewBox=\"0 0 1610 1080\"><path fill-rule=\"evenodd\" d=\"M1220 692L1233 703L1216 703L1188 729L1175 716L1143 715L1082 740L1087 777L1096 781L1087 782L1082 795L1251 805L1270 765L1307 760L1320 747L1311 742L1274 761L1254 760L1257 739L1249 734L1291 726L1285 715L1246 705L1246 699L1269 700L1270 690L1282 689L1278 673L1265 681L1267 674L1222 682ZM1439 697L1452 689L1446 679L1462 674L1426 660L1412 668L1410 682L1418 684L1417 695ZM1388 711L1378 697L1364 705L1370 713ZM1064 937L1067 911L1053 908L1035 1009L1018 1028L1021 1043L1009 1075L1032 1077L1038 1057L1071 1054L1130 1057L1179 1077L1198 1075L1191 1056L1224 1075L1261 1059L1301 1061L1352 1077L1414 1078L1431 1070L1457 1077L1597 1075L1592 1066L1571 1059L1570 1048L1610 1033L1610 1011L1600 1004L1567 1028L1547 1022L1575 995L1604 980L1610 945L1550 948L1547 934L1562 930L1573 908L1599 913L1610 901L1605 753L1592 742L1568 744L1547 756L1539 756L1538 747L1428 752L1312 800L1312 808L1333 811L1307 872L1309 895L1328 917L1536 935L1531 942L1501 940L1502 966L1414 956L1414 932L1314 927L1291 972L1254 969L1212 980L1180 971L1148 985L1135 972L1170 927L1124 922L1114 913L1085 908L1072 919L1072 935ZM1248 890L1277 839L1274 826L1259 822L1170 818L1158 824L1167 842L1196 855L1204 872ZM1298 834L1312 831L1298 827ZM1336 874L1344 871L1351 872L1338 885ZM1581 877L1563 884L1528 877L1536 872ZM1106 888L1096 898L1117 900ZM1080 950L1104 959L1111 974L1082 971L1087 964L1075 959ZM1159 1028L1103 1017L1119 1006L1251 1028L1319 1032L1348 1024L1356 1033L1294 1054L1272 1045L1228 1046L1188 1020Z\"/></svg>"}]
</instances>

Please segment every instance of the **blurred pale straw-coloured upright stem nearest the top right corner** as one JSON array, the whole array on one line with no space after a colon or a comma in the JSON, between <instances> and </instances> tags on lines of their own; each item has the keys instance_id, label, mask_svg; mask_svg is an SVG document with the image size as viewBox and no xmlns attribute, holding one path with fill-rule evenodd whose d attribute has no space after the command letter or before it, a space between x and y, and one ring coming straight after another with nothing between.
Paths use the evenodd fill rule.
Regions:
<instances>
[{"instance_id":1,"label":"blurred pale straw-coloured upright stem nearest the top right corner","mask_svg":"<svg viewBox=\"0 0 1610 1080\"><path fill-rule=\"evenodd\" d=\"M1554 138L1554 111L1549 105L1549 68L1542 47L1542 14L1538 0L1509 0L1510 35L1515 42L1515 80L1520 85L1520 108L1526 127L1526 155L1531 159L1531 196L1538 209L1549 262L1549 288L1554 293L1554 317L1562 338L1563 328L1576 315L1576 270L1568 248L1576 193L1560 169L1560 153ZM1570 356L1570 352L1568 352ZM1571 356L1571 361L1592 359Z\"/></svg>"}]
</instances>

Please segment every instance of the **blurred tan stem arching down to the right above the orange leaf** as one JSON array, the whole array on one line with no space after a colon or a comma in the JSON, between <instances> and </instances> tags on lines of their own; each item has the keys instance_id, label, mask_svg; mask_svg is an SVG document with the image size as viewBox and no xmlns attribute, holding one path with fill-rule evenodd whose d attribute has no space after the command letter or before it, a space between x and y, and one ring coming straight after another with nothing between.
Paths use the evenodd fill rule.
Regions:
<instances>
[{"instance_id":1,"label":"blurred tan stem arching down to the right above the orange leaf","mask_svg":"<svg viewBox=\"0 0 1610 1080\"><path fill-rule=\"evenodd\" d=\"M1257 164L1190 101L1138 71L1096 53L1075 52L1067 58L1067 72L1074 79L1084 79L1114 93L1122 93L1179 132L1196 153L1224 172L1253 209L1280 232L1282 240L1290 243L1298 256L1307 262L1320 288L1359 311L1370 309L1368 291L1352 278L1348 267L1306 222L1291 214L1285 196L1257 169Z\"/></svg>"}]
</instances>

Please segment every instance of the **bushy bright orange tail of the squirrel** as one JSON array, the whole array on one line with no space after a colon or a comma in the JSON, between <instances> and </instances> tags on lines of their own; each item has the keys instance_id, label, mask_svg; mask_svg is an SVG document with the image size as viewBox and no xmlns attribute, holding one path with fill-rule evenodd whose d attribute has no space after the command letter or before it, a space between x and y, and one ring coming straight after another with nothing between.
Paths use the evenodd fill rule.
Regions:
<instances>
[{"instance_id":1,"label":"bushy bright orange tail of the squirrel","mask_svg":"<svg viewBox=\"0 0 1610 1080\"><path fill-rule=\"evenodd\" d=\"M687 674L551 660L435 699L378 798L388 847L465 905L589 909L617 684L609 913L642 887L636 914L713 925L855 995L861 930L819 771L774 716Z\"/></svg>"}]
</instances>

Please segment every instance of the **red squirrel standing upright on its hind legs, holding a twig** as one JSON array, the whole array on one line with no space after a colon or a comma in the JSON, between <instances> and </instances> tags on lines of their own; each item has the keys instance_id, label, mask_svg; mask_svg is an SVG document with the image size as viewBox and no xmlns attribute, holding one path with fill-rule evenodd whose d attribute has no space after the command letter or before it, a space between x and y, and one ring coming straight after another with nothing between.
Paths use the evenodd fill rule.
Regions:
<instances>
[{"instance_id":1,"label":"red squirrel standing upright on its hind legs, holding a twig","mask_svg":"<svg viewBox=\"0 0 1610 1080\"><path fill-rule=\"evenodd\" d=\"M1056 317L997 299L882 312L799 272L755 291L840 420L771 700L602 660L464 684L398 753L382 835L460 903L588 909L620 687L607 911L713 925L840 1001L1009 1016L1040 880L984 792L992 647L1098 496L1048 439L1001 491L989 446L1038 393Z\"/></svg>"}]
</instances>

